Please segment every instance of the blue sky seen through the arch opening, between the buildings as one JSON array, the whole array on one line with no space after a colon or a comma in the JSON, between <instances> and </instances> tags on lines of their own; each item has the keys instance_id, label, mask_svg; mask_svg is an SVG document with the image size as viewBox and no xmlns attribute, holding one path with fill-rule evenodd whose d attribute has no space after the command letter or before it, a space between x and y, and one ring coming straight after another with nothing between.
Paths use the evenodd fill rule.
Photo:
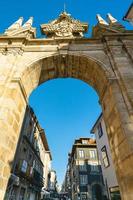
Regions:
<instances>
[{"instance_id":1,"label":"blue sky seen through the arch opening, between the buildings","mask_svg":"<svg viewBox=\"0 0 133 200\"><path fill-rule=\"evenodd\" d=\"M74 140L92 137L90 130L101 112L98 100L92 87L74 78L48 81L30 96L30 105L48 137L59 184Z\"/></svg>"}]
</instances>

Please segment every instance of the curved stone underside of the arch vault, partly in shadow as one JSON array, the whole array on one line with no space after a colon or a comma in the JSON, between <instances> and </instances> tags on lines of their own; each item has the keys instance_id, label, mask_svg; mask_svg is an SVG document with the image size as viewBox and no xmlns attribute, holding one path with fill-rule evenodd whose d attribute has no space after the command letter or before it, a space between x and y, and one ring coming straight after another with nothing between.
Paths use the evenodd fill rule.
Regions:
<instances>
[{"instance_id":1,"label":"curved stone underside of the arch vault, partly in shadow","mask_svg":"<svg viewBox=\"0 0 133 200\"><path fill-rule=\"evenodd\" d=\"M19 76L27 97L38 85L51 79L67 77L88 83L101 96L105 85L113 76L113 71L103 62L84 54L55 54L36 59L25 66Z\"/></svg>"}]
</instances>

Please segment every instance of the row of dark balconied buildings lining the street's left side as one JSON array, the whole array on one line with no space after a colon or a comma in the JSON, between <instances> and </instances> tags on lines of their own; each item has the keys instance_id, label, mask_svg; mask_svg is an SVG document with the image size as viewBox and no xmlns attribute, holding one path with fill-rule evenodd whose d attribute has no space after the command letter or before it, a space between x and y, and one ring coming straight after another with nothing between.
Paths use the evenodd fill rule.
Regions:
<instances>
[{"instance_id":1,"label":"row of dark balconied buildings lining the street's left side","mask_svg":"<svg viewBox=\"0 0 133 200\"><path fill-rule=\"evenodd\" d=\"M45 132L27 106L5 200L40 200L51 159Z\"/></svg>"}]
</instances>

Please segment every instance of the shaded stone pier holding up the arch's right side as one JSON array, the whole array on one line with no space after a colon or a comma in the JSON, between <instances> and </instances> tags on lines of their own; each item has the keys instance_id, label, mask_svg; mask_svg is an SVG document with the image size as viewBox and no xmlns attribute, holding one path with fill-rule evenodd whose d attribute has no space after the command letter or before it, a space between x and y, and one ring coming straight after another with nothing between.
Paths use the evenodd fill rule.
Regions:
<instances>
[{"instance_id":1,"label":"shaded stone pier holding up the arch's right side","mask_svg":"<svg viewBox=\"0 0 133 200\"><path fill-rule=\"evenodd\" d=\"M103 115L123 200L133 199L132 115L128 112L118 80L111 80L102 100ZM130 124L131 127L128 125Z\"/></svg>"}]
</instances>

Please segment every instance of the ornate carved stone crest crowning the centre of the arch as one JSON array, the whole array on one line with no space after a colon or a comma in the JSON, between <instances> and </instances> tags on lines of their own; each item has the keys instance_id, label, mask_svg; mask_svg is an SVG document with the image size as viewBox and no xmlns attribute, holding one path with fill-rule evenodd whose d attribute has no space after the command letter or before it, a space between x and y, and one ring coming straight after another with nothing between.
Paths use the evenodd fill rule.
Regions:
<instances>
[{"instance_id":1,"label":"ornate carved stone crest crowning the centre of the arch","mask_svg":"<svg viewBox=\"0 0 133 200\"><path fill-rule=\"evenodd\" d=\"M41 25L42 34L47 37L82 37L87 30L87 23L71 18L66 12L61 13L58 19L49 24Z\"/></svg>"}]
</instances>

